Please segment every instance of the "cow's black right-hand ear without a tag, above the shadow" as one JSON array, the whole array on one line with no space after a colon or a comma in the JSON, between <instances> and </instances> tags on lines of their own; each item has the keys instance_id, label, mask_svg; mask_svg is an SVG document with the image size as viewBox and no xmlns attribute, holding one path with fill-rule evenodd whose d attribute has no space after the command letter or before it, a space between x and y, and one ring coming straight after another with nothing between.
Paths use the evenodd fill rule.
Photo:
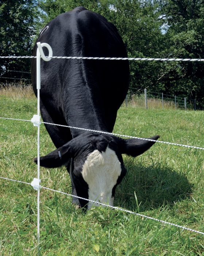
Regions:
<instances>
[{"instance_id":1,"label":"cow's black right-hand ear without a tag, above the shadow","mask_svg":"<svg viewBox=\"0 0 204 256\"><path fill-rule=\"evenodd\" d=\"M122 154L127 154L130 156L139 156L147 149L149 149L154 143L155 140L159 138L158 135L148 138L149 140L141 140L141 139L128 139L125 140L125 145L123 146Z\"/></svg>"}]
</instances>

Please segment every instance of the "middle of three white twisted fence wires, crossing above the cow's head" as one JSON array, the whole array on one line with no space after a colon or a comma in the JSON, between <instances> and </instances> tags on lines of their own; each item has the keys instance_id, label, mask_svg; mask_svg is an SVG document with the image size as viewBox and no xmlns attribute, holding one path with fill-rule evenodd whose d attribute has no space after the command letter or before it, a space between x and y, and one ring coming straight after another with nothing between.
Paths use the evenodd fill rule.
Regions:
<instances>
[{"instance_id":1,"label":"middle of three white twisted fence wires, crossing above the cow's head","mask_svg":"<svg viewBox=\"0 0 204 256\"><path fill-rule=\"evenodd\" d=\"M31 120L16 119L16 118L6 118L6 117L0 117L0 119L8 119L8 120L17 120L17 121L31 122ZM182 146L182 147L185 147L185 148L194 148L194 149L204 150L204 148L199 147L199 146L190 146L190 145L178 144L178 143L173 143L173 142L168 142L168 141L151 140L151 139L147 139L147 138L139 138L139 137L135 137L135 136L129 136L129 135L123 135L123 134L117 134L117 133L108 133L106 131L97 131L97 130L79 128L79 127L74 127L74 126L57 125L55 123L47 123L47 122L39 122L39 123L44 123L44 124L47 124L47 125L61 126L61 127L67 127L67 128L70 128L70 129L78 129L78 130L84 130L84 131L91 131L91 132L95 132L95 133L109 134L109 135L118 136L118 137L133 138L133 139L146 140L146 141L153 141L153 142L158 142L158 143L163 143L163 144L168 144L168 145L173 145L173 146Z\"/></svg>"}]
</instances>

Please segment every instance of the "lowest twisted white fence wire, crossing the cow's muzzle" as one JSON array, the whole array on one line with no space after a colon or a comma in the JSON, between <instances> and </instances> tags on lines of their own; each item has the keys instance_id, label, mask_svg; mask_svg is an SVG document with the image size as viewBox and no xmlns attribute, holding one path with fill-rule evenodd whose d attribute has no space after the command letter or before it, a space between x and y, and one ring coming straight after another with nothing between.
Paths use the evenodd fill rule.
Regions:
<instances>
[{"instance_id":1,"label":"lowest twisted white fence wire, crossing the cow's muzzle","mask_svg":"<svg viewBox=\"0 0 204 256\"><path fill-rule=\"evenodd\" d=\"M8 180L8 181L15 181L15 182L19 182L19 183L24 183L24 184L31 185L31 183L23 182L23 181L18 181L18 180L15 180L15 179L9 179L9 178L4 178L4 177L0 177L0 178L1 178L1 179ZM204 232L197 231L197 230L194 230L194 229L190 229L190 228L188 228L188 227L180 226L180 225L177 225L177 224L174 224L174 223L170 223L170 222L167 222L167 221L165 221L165 220L160 220L160 219L156 219L156 218L153 218L153 217L150 217L150 216L146 216L146 215L143 215L143 214L139 214L139 213L137 213L137 212L129 211L129 210L127 210L127 209L123 209L123 208L120 208L120 207L111 206L111 205L108 205L108 204L96 202L96 201L89 200L89 199L86 199L86 198L80 197L80 196L74 196L74 195L72 195L72 194L68 194L68 193L65 193L65 192L62 192L62 191L58 191L58 190L55 190L55 189L50 189L50 188L47 188L47 187L44 187L44 186L39 186L39 188L46 189L46 190L50 190L50 191L52 191L52 192L61 193L61 194L64 194L64 195L66 195L66 196L71 196L71 197L75 197L75 198L78 198L78 199L86 200L86 201L89 201L89 202L94 203L94 204L97 204L97 205L100 204L100 205L102 205L102 206L104 206L104 207L109 207L109 208L111 208L111 209L116 209L116 210L119 210L119 211L127 212L127 213L129 213L129 214L134 214L134 215L140 216L140 217L142 217L142 218L146 218L146 219L150 219L150 220L155 220L155 221L157 221L157 222L160 222L160 223L163 223L163 224L166 224L166 225L178 227L178 228L180 228L180 229L184 229L184 230L188 230L188 231L192 231L192 232L195 232L195 233L204 235Z\"/></svg>"}]
</instances>

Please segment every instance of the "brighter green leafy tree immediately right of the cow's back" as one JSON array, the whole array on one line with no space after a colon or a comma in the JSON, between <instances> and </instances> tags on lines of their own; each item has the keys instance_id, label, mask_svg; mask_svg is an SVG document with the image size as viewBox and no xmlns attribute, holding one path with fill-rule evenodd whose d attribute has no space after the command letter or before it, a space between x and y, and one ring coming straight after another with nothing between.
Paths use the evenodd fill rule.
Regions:
<instances>
[{"instance_id":1,"label":"brighter green leafy tree immediately right of the cow's back","mask_svg":"<svg viewBox=\"0 0 204 256\"><path fill-rule=\"evenodd\" d=\"M162 22L152 1L115 0L115 21L129 57L158 57L163 51ZM132 88L153 89L161 63L130 62Z\"/></svg>"}]
</instances>

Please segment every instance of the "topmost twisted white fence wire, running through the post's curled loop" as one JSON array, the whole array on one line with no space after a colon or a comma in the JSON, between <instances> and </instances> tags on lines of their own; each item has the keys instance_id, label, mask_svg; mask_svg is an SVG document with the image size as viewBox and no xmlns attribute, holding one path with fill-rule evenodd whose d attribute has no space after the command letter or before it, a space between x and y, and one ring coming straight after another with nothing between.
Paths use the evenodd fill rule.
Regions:
<instances>
[{"instance_id":1,"label":"topmost twisted white fence wire, running through the post's curled loop","mask_svg":"<svg viewBox=\"0 0 204 256\"><path fill-rule=\"evenodd\" d=\"M120 57L66 57L52 56L51 59L78 59L78 60L142 60L142 61L176 61L176 62L204 62L204 59L178 59L178 58L120 58ZM36 56L0 56L0 59L36 59Z\"/></svg>"}]
</instances>

